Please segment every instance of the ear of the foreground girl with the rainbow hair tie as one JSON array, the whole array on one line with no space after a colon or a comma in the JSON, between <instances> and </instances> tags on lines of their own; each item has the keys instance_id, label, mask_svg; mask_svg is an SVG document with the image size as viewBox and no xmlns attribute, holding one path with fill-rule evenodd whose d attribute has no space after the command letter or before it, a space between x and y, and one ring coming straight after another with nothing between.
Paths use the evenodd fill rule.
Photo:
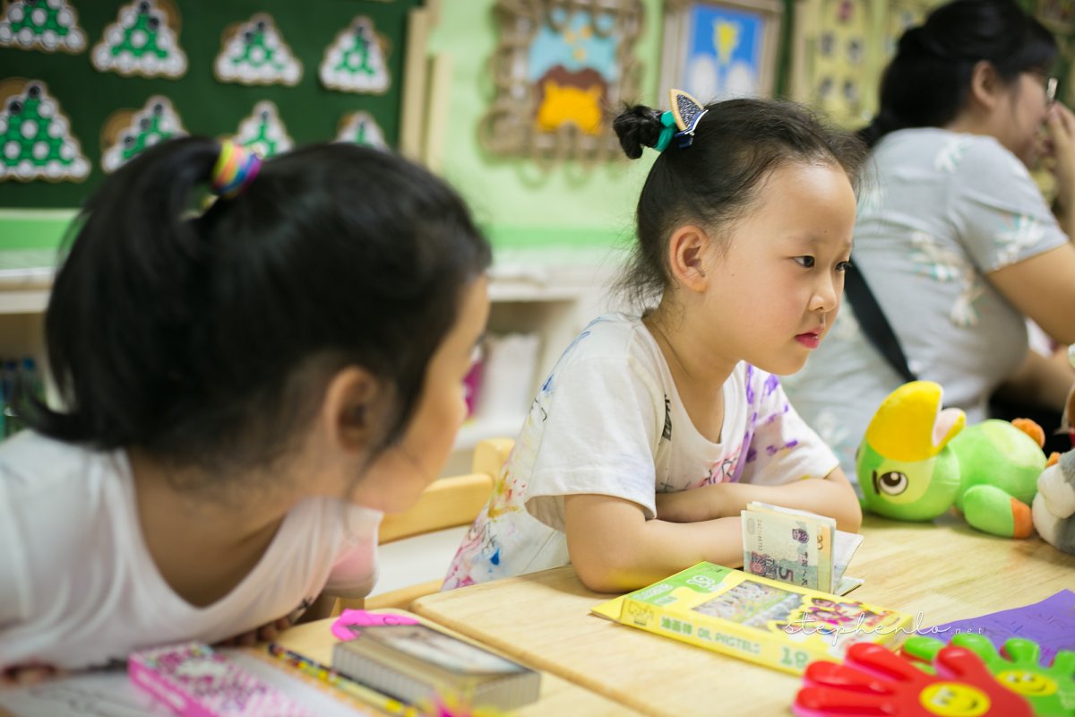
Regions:
<instances>
[{"instance_id":1,"label":"ear of the foreground girl with the rainbow hair tie","mask_svg":"<svg viewBox=\"0 0 1075 717\"><path fill-rule=\"evenodd\" d=\"M381 382L360 367L347 367L332 376L321 405L332 443L347 453L368 450L384 430L385 395Z\"/></svg>"}]
</instances>

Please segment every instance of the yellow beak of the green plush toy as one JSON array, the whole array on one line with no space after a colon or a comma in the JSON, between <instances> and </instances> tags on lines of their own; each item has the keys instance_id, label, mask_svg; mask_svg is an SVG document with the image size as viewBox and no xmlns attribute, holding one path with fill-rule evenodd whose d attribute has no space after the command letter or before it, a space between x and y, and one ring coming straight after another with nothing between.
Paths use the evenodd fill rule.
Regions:
<instances>
[{"instance_id":1,"label":"yellow beak of the green plush toy","mask_svg":"<svg viewBox=\"0 0 1075 717\"><path fill-rule=\"evenodd\" d=\"M866 429L866 442L890 460L932 458L963 430L959 408L941 410L942 389L931 381L913 381L888 395Z\"/></svg>"}]
</instances>

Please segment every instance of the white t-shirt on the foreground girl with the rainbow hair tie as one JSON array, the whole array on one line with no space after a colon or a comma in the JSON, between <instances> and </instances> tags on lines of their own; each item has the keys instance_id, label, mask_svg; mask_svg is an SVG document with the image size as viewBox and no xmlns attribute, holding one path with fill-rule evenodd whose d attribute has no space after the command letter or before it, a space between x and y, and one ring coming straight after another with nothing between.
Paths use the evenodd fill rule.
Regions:
<instances>
[{"instance_id":1,"label":"white t-shirt on the foreground girl with the rainbow hair tie","mask_svg":"<svg viewBox=\"0 0 1075 717\"><path fill-rule=\"evenodd\" d=\"M126 453L24 431L0 445L0 669L84 668L152 645L215 643L304 608L322 590L364 596L381 517L306 499L231 593L196 607L146 549Z\"/></svg>"}]
</instances>

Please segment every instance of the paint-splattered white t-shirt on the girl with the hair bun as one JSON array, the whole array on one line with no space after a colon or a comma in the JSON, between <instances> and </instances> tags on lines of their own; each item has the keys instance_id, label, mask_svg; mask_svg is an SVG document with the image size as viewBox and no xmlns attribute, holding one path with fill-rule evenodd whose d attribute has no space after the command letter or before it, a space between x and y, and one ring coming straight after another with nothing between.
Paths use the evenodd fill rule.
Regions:
<instances>
[{"instance_id":1,"label":"paint-splattered white t-shirt on the girl with the hair bun","mask_svg":"<svg viewBox=\"0 0 1075 717\"><path fill-rule=\"evenodd\" d=\"M658 492L734 481L782 485L836 468L776 376L739 363L723 402L721 440L713 443L691 422L642 320L598 318L542 385L442 589L568 564L564 496L622 498L651 519Z\"/></svg>"}]
</instances>

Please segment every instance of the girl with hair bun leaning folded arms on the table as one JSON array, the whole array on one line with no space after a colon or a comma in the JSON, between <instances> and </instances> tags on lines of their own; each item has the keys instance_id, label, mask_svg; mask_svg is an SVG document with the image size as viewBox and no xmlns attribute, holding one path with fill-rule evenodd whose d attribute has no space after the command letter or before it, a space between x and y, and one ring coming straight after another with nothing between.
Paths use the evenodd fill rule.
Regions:
<instances>
[{"instance_id":1,"label":"girl with hair bun leaning folded arms on the table","mask_svg":"<svg viewBox=\"0 0 1075 717\"><path fill-rule=\"evenodd\" d=\"M639 198L621 284L650 306L598 318L560 357L444 589L570 562L619 592L702 560L741 565L754 500L858 529L851 486L776 374L803 365L840 307L860 145L790 103L704 110ZM615 120L631 158L666 126L645 106Z\"/></svg>"}]
</instances>

